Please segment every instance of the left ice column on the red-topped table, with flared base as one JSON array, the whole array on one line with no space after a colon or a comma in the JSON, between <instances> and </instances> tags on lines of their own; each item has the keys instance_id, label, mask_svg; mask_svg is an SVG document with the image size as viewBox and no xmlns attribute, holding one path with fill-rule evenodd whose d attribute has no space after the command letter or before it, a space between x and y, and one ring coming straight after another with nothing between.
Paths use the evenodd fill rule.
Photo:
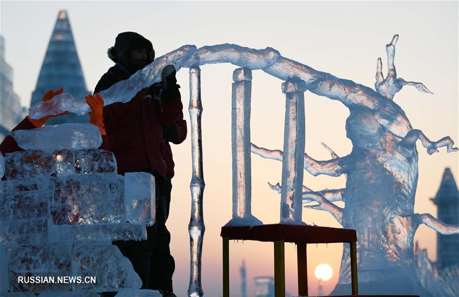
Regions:
<instances>
[{"instance_id":1,"label":"left ice column on the red-topped table, with flared base","mask_svg":"<svg viewBox=\"0 0 459 297\"><path fill-rule=\"evenodd\" d=\"M252 71L233 72L231 101L231 148L233 159L233 217L226 225L261 225L252 215L252 175L250 156L250 100Z\"/></svg>"}]
</instances>

